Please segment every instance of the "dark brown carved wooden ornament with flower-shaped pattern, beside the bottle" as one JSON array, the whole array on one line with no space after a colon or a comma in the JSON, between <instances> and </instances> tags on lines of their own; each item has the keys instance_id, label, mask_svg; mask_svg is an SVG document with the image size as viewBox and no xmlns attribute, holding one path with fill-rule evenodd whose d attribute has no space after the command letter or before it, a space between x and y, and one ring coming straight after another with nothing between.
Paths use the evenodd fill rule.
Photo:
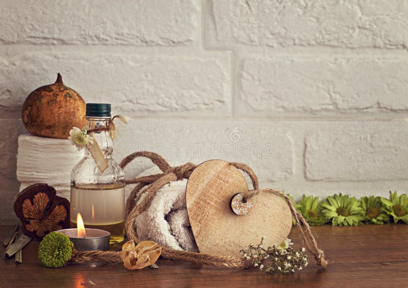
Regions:
<instances>
[{"instance_id":1,"label":"dark brown carved wooden ornament with flower-shaped pattern, beside the bottle","mask_svg":"<svg viewBox=\"0 0 408 288\"><path fill-rule=\"evenodd\" d=\"M57 196L55 189L46 184L34 184L21 191L14 201L14 212L24 234L36 240L69 228L69 201Z\"/></svg>"}]
</instances>

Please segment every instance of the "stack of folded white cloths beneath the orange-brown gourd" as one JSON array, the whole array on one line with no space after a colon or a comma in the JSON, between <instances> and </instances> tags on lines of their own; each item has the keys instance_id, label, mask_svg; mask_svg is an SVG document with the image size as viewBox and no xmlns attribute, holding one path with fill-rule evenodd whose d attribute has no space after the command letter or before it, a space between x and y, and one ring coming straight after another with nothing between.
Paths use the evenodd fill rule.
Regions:
<instances>
[{"instance_id":1,"label":"stack of folded white cloths beneath the orange-brown gourd","mask_svg":"<svg viewBox=\"0 0 408 288\"><path fill-rule=\"evenodd\" d=\"M17 154L20 191L35 183L45 183L53 186L58 196L69 200L71 170L83 156L84 151L77 151L68 139L20 135Z\"/></svg>"}]
</instances>

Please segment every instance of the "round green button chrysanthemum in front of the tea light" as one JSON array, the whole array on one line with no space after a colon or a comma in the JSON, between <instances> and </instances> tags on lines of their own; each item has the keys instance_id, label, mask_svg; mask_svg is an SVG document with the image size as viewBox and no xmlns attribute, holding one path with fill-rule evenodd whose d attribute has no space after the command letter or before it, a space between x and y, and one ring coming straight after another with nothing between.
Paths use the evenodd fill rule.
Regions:
<instances>
[{"instance_id":1,"label":"round green button chrysanthemum in front of the tea light","mask_svg":"<svg viewBox=\"0 0 408 288\"><path fill-rule=\"evenodd\" d=\"M38 247L38 259L42 266L57 268L71 258L73 244L67 235L59 232L47 234Z\"/></svg>"}]
</instances>

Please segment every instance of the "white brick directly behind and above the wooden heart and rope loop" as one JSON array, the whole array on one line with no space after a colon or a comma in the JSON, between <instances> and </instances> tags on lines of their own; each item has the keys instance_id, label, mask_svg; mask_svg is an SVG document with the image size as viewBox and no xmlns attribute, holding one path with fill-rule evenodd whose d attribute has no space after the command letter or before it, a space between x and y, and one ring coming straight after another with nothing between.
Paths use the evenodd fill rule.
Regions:
<instances>
[{"instance_id":1,"label":"white brick directly behind and above the wooden heart and rope loop","mask_svg":"<svg viewBox=\"0 0 408 288\"><path fill-rule=\"evenodd\" d=\"M163 155L173 165L210 159L248 164L264 181L286 180L293 175L290 133L270 122L131 120L116 140L117 160L136 151ZM152 166L135 160L125 169L127 178Z\"/></svg>"}]
</instances>

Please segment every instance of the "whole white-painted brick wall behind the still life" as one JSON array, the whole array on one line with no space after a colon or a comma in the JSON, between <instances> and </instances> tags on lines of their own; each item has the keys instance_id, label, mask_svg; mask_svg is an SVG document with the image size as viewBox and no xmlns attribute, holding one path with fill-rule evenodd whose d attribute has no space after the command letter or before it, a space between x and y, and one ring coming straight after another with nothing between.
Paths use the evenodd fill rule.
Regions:
<instances>
[{"instance_id":1,"label":"whole white-painted brick wall behind the still life","mask_svg":"<svg viewBox=\"0 0 408 288\"><path fill-rule=\"evenodd\" d=\"M297 198L408 191L405 0L0 0L0 17L0 222L21 104L57 72L130 117L118 160L240 161Z\"/></svg>"}]
</instances>

